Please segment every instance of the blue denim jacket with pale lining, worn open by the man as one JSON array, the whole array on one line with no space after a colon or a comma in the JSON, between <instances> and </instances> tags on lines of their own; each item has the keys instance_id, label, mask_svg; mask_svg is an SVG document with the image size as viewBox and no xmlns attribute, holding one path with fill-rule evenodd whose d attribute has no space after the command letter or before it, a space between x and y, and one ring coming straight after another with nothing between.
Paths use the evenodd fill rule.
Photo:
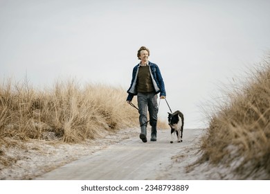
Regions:
<instances>
[{"instance_id":1,"label":"blue denim jacket with pale lining, worn open by the man","mask_svg":"<svg viewBox=\"0 0 270 194\"><path fill-rule=\"evenodd\" d=\"M160 96L166 96L166 91L165 91L165 85L163 82L163 78L161 76L161 71L159 70L159 67L152 63L149 62L148 64L149 68L150 68L150 76L152 78L152 82L154 85L154 89L156 91L156 94L158 94L159 92L161 93ZM138 69L140 68L140 64L137 64L133 71L132 71L132 83L129 87L129 89L127 89L127 100L132 100L132 98L134 96L136 96L138 94L137 91L137 78L138 78Z\"/></svg>"}]
</instances>

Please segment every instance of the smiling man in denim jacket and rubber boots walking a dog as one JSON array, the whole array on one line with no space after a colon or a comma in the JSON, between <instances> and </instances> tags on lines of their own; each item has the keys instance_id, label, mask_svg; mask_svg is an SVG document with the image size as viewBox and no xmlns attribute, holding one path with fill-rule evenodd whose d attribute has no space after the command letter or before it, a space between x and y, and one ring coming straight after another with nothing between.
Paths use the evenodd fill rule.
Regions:
<instances>
[{"instance_id":1,"label":"smiling man in denim jacket and rubber boots walking a dog","mask_svg":"<svg viewBox=\"0 0 270 194\"><path fill-rule=\"evenodd\" d=\"M140 139L147 142L147 108L150 115L151 139L156 141L156 123L157 123L157 94L160 98L166 96L165 85L161 76L159 67L148 61L150 51L145 46L141 46L138 50L137 57L141 60L132 71L132 83L127 90L127 103L132 102L132 98L137 95L138 112L140 114L139 121L141 125Z\"/></svg>"}]
</instances>

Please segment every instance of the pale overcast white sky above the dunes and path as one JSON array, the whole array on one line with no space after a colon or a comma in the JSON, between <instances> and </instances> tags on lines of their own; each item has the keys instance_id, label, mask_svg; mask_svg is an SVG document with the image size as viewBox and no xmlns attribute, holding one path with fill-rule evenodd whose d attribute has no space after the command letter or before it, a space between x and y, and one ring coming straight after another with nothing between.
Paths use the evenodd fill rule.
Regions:
<instances>
[{"instance_id":1,"label":"pale overcast white sky above the dunes and path","mask_svg":"<svg viewBox=\"0 0 270 194\"><path fill-rule=\"evenodd\" d=\"M35 87L76 78L127 89L147 46L172 110L186 128L205 127L201 106L220 83L241 80L269 51L269 8L267 0L0 0L0 78L27 72ZM159 118L167 112L163 100Z\"/></svg>"}]
</instances>

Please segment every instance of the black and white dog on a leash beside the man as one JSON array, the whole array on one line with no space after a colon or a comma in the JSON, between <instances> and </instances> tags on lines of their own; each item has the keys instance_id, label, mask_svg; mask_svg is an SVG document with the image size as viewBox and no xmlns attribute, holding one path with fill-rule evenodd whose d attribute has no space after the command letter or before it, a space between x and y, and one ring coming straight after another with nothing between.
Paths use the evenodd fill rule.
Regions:
<instances>
[{"instance_id":1,"label":"black and white dog on a leash beside the man","mask_svg":"<svg viewBox=\"0 0 270 194\"><path fill-rule=\"evenodd\" d=\"M169 116L168 116L168 121L169 121L169 125L171 128L170 134L172 136L172 133L176 133L177 134L177 142L182 142L182 137L183 137L183 114L177 110L176 112L174 112L173 114L170 114L168 112ZM181 132L181 134L180 134ZM170 141L170 143L173 143L173 136L172 136L172 140Z\"/></svg>"}]
</instances>

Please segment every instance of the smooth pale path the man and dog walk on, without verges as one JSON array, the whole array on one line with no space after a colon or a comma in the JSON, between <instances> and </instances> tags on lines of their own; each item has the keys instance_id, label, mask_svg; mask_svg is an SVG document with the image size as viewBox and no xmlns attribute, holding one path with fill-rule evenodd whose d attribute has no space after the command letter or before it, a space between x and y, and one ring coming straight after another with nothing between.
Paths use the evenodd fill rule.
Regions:
<instances>
[{"instance_id":1,"label":"smooth pale path the man and dog walk on, without verges","mask_svg":"<svg viewBox=\"0 0 270 194\"><path fill-rule=\"evenodd\" d=\"M201 134L199 129L185 130L182 143L170 143L169 130L159 130L156 142L143 143L132 137L36 179L177 179L170 174L173 160L184 161L181 153L188 155L188 150L194 150ZM184 161L178 168L187 165Z\"/></svg>"}]
</instances>

